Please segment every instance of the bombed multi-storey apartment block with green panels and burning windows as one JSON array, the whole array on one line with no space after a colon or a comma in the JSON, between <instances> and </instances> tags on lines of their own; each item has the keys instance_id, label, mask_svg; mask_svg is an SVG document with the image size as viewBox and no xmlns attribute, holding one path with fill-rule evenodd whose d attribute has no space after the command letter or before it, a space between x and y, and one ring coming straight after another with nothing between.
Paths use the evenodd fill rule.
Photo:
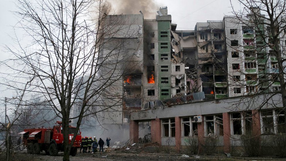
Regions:
<instances>
[{"instance_id":1,"label":"bombed multi-storey apartment block with green panels and burning windows","mask_svg":"<svg viewBox=\"0 0 286 161\"><path fill-rule=\"evenodd\" d=\"M226 99L247 94L258 89L254 78L266 70L261 62L270 62L273 66L269 65L268 71L277 72L273 69L277 60L263 57L263 61L253 62L253 54L245 54L255 41L254 31L232 22L229 16L221 21L198 22L195 30L176 30L177 25L172 23L167 7L160 8L157 13L156 19L144 19L144 13L106 17L113 22L110 28L117 31L105 35L104 39L121 41L121 44L104 45L101 53L119 53L119 58L113 57L110 61L122 61L114 67L118 69L115 73L120 79L116 77L109 88L117 96L102 98L112 108L101 113L98 120L101 124L128 127L132 111L144 112L192 100ZM102 68L103 75L107 73L104 77L114 68ZM279 86L275 82L269 91L279 90ZM208 112L217 113L215 110ZM222 113L206 119L211 122L216 118L218 122L222 121ZM174 119L165 120L166 124L175 123ZM189 121L192 119L190 117ZM220 125L215 127L217 134L222 132ZM170 137L175 135L172 130L172 127L168 130Z\"/></svg>"}]
</instances>

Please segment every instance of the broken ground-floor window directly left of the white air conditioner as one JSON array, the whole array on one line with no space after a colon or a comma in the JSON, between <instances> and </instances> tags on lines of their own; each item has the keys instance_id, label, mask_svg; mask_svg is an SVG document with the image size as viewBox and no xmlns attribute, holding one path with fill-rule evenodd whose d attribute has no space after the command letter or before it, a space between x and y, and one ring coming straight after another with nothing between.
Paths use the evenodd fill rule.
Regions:
<instances>
[{"instance_id":1,"label":"broken ground-floor window directly left of the white air conditioner","mask_svg":"<svg viewBox=\"0 0 286 161\"><path fill-rule=\"evenodd\" d=\"M182 118L182 137L198 136L198 123L194 121L194 117Z\"/></svg>"}]
</instances>

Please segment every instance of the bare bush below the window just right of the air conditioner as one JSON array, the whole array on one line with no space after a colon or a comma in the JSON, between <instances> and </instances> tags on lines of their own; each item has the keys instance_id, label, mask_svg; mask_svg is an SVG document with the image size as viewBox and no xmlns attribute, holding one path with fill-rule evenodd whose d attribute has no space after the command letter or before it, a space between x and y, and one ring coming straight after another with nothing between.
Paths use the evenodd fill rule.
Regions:
<instances>
[{"instance_id":1,"label":"bare bush below the window just right of the air conditioner","mask_svg":"<svg viewBox=\"0 0 286 161\"><path fill-rule=\"evenodd\" d=\"M210 136L204 139L204 144L202 144L202 148L206 154L215 154L216 147L218 145L218 138L216 136Z\"/></svg>"}]
</instances>

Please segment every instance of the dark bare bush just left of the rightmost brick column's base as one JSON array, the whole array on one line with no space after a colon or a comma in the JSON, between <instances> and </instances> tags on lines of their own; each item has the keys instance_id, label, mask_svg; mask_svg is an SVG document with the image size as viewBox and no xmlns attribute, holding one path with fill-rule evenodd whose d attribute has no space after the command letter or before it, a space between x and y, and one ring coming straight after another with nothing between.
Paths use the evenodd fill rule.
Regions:
<instances>
[{"instance_id":1,"label":"dark bare bush just left of the rightmost brick column's base","mask_svg":"<svg viewBox=\"0 0 286 161\"><path fill-rule=\"evenodd\" d=\"M241 135L241 145L246 155L257 157L261 155L261 139L252 134Z\"/></svg>"}]
</instances>

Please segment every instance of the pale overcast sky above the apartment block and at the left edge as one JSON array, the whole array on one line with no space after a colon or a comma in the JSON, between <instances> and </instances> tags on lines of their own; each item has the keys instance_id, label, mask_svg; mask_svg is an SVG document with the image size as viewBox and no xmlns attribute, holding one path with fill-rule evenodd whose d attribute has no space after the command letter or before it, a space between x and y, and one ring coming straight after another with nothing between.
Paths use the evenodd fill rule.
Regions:
<instances>
[{"instance_id":1,"label":"pale overcast sky above the apartment block and at the left edge","mask_svg":"<svg viewBox=\"0 0 286 161\"><path fill-rule=\"evenodd\" d=\"M16 0L1 0L0 46L3 46L4 44L13 45L13 41L9 35L13 36L14 32L11 26L14 26L17 23L17 19L13 13L11 13L11 11L16 10L16 6L14 4L15 1ZM125 0L117 1L119 1L117 6L120 6L120 1ZM132 1L136 2L137 0ZM232 11L230 8L231 5L229 0L153 0L153 2L157 6L157 9L154 10L154 15L156 14L156 11L159 10L159 7L168 7L168 14L172 15L172 23L176 23L178 25L177 30L193 30L196 22L206 22L207 20L222 20L224 15L231 15ZM239 10L240 4L237 2L237 0L232 0L232 2L235 6L235 9ZM138 12L136 11L135 14L139 14L139 10L141 9L139 8ZM19 38L23 38L23 32L21 30L17 30L16 35ZM25 43L27 42L23 42L23 44ZM8 58L9 54L3 52L2 49L3 48L1 47L0 60L5 60ZM0 70L5 71L5 69L1 66ZM2 90L3 87L0 87L0 91ZM11 97L11 93L7 93L7 91L0 92L0 97L3 98L4 96Z\"/></svg>"}]
</instances>

